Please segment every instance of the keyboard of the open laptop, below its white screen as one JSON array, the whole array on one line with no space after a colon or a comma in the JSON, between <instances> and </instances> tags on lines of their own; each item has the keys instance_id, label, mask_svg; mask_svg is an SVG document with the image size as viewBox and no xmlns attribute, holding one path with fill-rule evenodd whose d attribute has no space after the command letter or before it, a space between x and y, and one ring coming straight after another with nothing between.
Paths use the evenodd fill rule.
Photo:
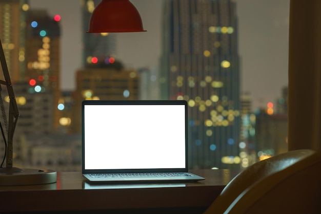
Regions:
<instances>
[{"instance_id":1,"label":"keyboard of the open laptop, below its white screen","mask_svg":"<svg viewBox=\"0 0 321 214\"><path fill-rule=\"evenodd\" d=\"M134 177L178 177L191 176L188 173L102 173L89 174L92 178L134 178Z\"/></svg>"}]
</instances>

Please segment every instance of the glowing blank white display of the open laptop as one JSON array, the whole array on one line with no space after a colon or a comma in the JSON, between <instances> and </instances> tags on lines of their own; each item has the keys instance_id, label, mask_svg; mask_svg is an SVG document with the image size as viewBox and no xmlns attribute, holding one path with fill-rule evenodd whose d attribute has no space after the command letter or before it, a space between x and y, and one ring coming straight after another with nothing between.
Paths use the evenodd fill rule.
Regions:
<instances>
[{"instance_id":1,"label":"glowing blank white display of the open laptop","mask_svg":"<svg viewBox=\"0 0 321 214\"><path fill-rule=\"evenodd\" d=\"M85 105L85 169L186 167L184 105Z\"/></svg>"}]
</instances>

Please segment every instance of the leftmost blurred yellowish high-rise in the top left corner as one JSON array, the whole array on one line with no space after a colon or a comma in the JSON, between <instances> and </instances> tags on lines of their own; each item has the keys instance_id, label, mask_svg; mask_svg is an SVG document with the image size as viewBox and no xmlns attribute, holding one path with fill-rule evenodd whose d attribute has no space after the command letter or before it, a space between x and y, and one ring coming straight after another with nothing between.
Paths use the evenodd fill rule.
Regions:
<instances>
[{"instance_id":1,"label":"leftmost blurred yellowish high-rise in the top left corner","mask_svg":"<svg viewBox=\"0 0 321 214\"><path fill-rule=\"evenodd\" d=\"M0 0L0 39L11 82L23 80L25 64L26 0ZM0 77L3 78L2 72Z\"/></svg>"}]
</instances>

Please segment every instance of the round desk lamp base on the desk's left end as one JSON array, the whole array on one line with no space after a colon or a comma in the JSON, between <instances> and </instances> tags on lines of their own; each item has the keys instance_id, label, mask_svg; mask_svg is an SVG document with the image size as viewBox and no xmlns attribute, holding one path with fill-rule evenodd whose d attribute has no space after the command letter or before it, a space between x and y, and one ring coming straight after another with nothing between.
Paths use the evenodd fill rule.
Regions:
<instances>
[{"instance_id":1,"label":"round desk lamp base on the desk's left end","mask_svg":"<svg viewBox=\"0 0 321 214\"><path fill-rule=\"evenodd\" d=\"M36 185L57 182L57 172L50 169L0 168L0 186Z\"/></svg>"}]
</instances>

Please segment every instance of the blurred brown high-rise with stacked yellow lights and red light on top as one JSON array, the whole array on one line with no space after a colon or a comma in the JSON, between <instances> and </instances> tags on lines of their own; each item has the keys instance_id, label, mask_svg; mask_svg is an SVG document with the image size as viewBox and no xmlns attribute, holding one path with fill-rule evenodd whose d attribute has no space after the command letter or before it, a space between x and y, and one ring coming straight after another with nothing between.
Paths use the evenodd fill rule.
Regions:
<instances>
[{"instance_id":1,"label":"blurred brown high-rise with stacked yellow lights and red light on top","mask_svg":"<svg viewBox=\"0 0 321 214\"><path fill-rule=\"evenodd\" d=\"M60 26L59 16L45 10L29 10L26 17L26 72L29 93L51 92L53 96L53 131L59 127L60 97Z\"/></svg>"}]
</instances>

